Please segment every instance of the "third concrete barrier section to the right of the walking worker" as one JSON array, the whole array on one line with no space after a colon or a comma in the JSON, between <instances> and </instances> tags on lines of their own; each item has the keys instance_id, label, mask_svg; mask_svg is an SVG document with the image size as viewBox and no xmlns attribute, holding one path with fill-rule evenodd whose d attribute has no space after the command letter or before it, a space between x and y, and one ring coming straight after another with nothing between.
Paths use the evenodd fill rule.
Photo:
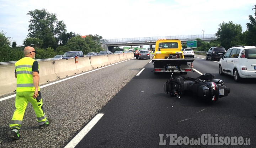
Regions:
<instances>
[{"instance_id":1,"label":"third concrete barrier section to the right of the walking worker","mask_svg":"<svg viewBox=\"0 0 256 148\"><path fill-rule=\"evenodd\" d=\"M76 68L80 72L92 70L90 57L80 57L80 58L75 59L75 61L76 61Z\"/></svg>"}]
</instances>

